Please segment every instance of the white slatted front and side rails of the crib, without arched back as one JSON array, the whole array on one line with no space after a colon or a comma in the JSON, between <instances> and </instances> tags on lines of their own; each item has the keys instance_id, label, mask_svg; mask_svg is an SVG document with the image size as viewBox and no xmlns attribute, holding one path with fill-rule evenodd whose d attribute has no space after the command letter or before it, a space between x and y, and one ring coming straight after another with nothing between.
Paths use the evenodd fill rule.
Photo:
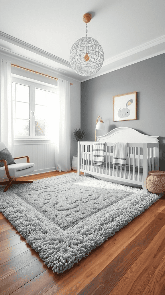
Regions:
<instances>
[{"instance_id":1,"label":"white slatted front and side rails of the crib, without arched back","mask_svg":"<svg viewBox=\"0 0 165 295\"><path fill-rule=\"evenodd\" d=\"M80 172L142 184L148 172L159 170L159 143L127 143L124 167L113 164L113 143L105 142L104 164L93 163L94 142L78 142L78 175ZM145 179L145 180L144 180Z\"/></svg>"}]
</instances>

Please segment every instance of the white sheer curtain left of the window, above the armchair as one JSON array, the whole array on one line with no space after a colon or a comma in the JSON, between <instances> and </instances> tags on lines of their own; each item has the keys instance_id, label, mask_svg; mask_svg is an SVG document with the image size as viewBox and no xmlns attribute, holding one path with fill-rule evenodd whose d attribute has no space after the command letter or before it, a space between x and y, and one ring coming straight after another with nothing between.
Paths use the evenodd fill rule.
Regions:
<instances>
[{"instance_id":1,"label":"white sheer curtain left of the window, above the armchair","mask_svg":"<svg viewBox=\"0 0 165 295\"><path fill-rule=\"evenodd\" d=\"M14 156L11 62L0 60L1 142Z\"/></svg>"}]
</instances>

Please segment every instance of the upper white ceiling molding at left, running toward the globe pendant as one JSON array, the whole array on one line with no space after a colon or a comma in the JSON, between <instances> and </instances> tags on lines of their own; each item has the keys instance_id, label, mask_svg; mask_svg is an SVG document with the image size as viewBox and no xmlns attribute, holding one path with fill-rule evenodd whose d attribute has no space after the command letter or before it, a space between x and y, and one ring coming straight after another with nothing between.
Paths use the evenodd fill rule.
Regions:
<instances>
[{"instance_id":1,"label":"upper white ceiling molding at left, running toward the globe pendant","mask_svg":"<svg viewBox=\"0 0 165 295\"><path fill-rule=\"evenodd\" d=\"M33 46L33 45L31 45L31 44L29 44L27 42L19 40L19 39L13 37L13 36L10 36L10 35L8 35L8 34L6 34L4 32L1 32L1 31L0 31L0 39L4 40L6 42L12 43L12 44L14 44L16 46L22 47L22 48L24 48L26 50L29 50L29 51L33 52L33 53L39 54L39 55L41 55L41 56L43 56L45 58L54 60L55 62L60 63L62 65L65 65L68 68L72 68L70 63L67 60L59 58L56 55L48 53L47 51L44 51L44 50L42 50L42 49L40 49L40 48L38 48L36 46Z\"/></svg>"}]
</instances>

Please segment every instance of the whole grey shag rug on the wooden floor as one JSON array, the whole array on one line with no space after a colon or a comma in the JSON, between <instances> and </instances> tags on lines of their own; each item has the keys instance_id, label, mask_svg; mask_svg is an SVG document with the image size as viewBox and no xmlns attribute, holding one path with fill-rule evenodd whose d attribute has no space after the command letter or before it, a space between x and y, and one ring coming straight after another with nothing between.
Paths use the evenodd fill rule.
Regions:
<instances>
[{"instance_id":1,"label":"whole grey shag rug on the wooden floor","mask_svg":"<svg viewBox=\"0 0 165 295\"><path fill-rule=\"evenodd\" d=\"M4 187L4 186L3 186ZM0 211L54 272L63 273L160 194L68 173L0 188Z\"/></svg>"}]
</instances>

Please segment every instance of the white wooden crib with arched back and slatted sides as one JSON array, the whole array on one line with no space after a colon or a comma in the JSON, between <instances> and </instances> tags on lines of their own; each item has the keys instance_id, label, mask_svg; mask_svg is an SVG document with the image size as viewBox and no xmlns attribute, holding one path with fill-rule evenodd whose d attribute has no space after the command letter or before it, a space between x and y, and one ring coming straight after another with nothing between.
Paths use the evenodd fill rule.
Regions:
<instances>
[{"instance_id":1,"label":"white wooden crib with arched back and slatted sides","mask_svg":"<svg viewBox=\"0 0 165 295\"><path fill-rule=\"evenodd\" d=\"M92 161L92 141L78 142L78 175L93 176L130 186L142 186L147 192L146 178L148 172L159 170L158 136L144 135L132 128L119 127L97 141L105 142L104 165ZM127 160L124 167L113 164L113 142L127 142Z\"/></svg>"}]
</instances>

